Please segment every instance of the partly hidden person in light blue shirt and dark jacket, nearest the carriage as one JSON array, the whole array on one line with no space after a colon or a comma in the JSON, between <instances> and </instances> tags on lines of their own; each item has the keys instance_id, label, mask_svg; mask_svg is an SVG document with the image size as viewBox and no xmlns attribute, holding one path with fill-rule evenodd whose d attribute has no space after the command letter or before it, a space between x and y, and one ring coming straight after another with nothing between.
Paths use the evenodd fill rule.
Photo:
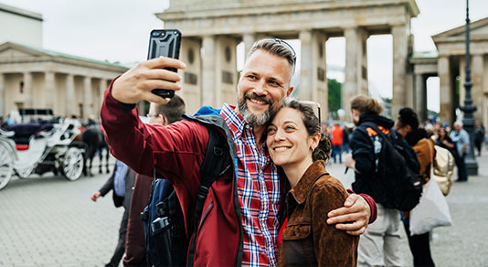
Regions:
<instances>
[{"instance_id":1,"label":"partly hidden person in light blue shirt and dark jacket, nearest the carriage","mask_svg":"<svg viewBox=\"0 0 488 267\"><path fill-rule=\"evenodd\" d=\"M121 221L121 227L119 228L119 240L117 247L111 257L111 262L107 263L105 267L119 266L119 262L122 260L125 235L127 233L127 220L129 219L129 206L131 204L131 196L133 193L133 184L135 179L135 173L131 168L117 160L113 174L107 180L107 182L100 188L99 191L93 193L91 200L97 201L97 198L105 197L108 192L113 190L113 204L116 208L123 207L123 216Z\"/></svg>"}]
</instances>

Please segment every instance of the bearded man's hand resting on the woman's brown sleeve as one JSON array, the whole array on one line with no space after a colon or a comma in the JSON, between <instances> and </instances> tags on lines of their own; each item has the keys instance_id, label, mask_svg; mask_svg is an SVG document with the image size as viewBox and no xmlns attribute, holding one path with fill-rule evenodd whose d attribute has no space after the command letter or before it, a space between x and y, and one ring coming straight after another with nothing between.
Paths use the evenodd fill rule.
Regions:
<instances>
[{"instance_id":1,"label":"bearded man's hand resting on the woman's brown sleeve","mask_svg":"<svg viewBox=\"0 0 488 267\"><path fill-rule=\"evenodd\" d=\"M343 208L336 208L327 214L327 224L335 224L338 230L345 230L350 235L358 236L365 232L371 216L371 209L366 200L351 194L345 199Z\"/></svg>"}]
</instances>

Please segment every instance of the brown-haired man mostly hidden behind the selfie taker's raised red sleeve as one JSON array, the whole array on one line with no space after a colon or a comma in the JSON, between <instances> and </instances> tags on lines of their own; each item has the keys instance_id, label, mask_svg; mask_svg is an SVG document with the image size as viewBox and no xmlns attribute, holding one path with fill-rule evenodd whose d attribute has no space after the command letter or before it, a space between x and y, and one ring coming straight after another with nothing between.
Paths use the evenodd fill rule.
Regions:
<instances>
[{"instance_id":1,"label":"brown-haired man mostly hidden behind the selfie taker's raised red sleeve","mask_svg":"<svg viewBox=\"0 0 488 267\"><path fill-rule=\"evenodd\" d=\"M166 126L183 119L185 101L177 95L167 104L151 103L149 105L149 123ZM125 257L123 266L147 266L143 220L141 212L149 202L153 177L137 175L133 187L133 198L129 209L127 238L125 241Z\"/></svg>"}]
</instances>

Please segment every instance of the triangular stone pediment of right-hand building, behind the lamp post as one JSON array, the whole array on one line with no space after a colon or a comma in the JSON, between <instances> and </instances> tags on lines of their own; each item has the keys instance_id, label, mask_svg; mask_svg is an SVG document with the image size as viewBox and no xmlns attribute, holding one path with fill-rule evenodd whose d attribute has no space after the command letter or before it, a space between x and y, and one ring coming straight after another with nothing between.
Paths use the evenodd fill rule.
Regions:
<instances>
[{"instance_id":1,"label":"triangular stone pediment of right-hand building, behind the lamp post","mask_svg":"<svg viewBox=\"0 0 488 267\"><path fill-rule=\"evenodd\" d=\"M460 26L451 28L450 30L441 32L432 36L434 42L446 41L446 40L458 40L464 38L466 35L466 26ZM488 17L474 21L470 24L470 35L476 38L488 39Z\"/></svg>"}]
</instances>

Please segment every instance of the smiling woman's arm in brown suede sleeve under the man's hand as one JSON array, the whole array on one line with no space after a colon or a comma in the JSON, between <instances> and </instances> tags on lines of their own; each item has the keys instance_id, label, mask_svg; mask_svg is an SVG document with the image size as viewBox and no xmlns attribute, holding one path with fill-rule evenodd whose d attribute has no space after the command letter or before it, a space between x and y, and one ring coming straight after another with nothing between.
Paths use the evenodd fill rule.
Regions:
<instances>
[{"instance_id":1,"label":"smiling woman's arm in brown suede sleeve under the man's hand","mask_svg":"<svg viewBox=\"0 0 488 267\"><path fill-rule=\"evenodd\" d=\"M327 213L343 206L348 194L339 182L313 187L312 227L313 248L318 266L355 266L359 237L328 225Z\"/></svg>"}]
</instances>

